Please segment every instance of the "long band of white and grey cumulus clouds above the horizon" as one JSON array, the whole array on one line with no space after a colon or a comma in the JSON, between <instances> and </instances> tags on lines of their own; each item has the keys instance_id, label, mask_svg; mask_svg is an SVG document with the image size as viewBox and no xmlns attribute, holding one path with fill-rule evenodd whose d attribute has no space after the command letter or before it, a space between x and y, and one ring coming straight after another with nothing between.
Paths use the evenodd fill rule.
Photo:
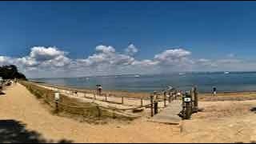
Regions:
<instances>
[{"instance_id":1,"label":"long band of white and grey cumulus clouds above the horizon","mask_svg":"<svg viewBox=\"0 0 256 144\"><path fill-rule=\"evenodd\" d=\"M138 59L138 49L130 44L124 53L113 46L96 46L95 53L85 58L69 58L68 52L58 47L34 46L22 58L0 56L0 65L17 65L28 77L75 77L93 74L160 73L174 70L238 70L256 62L227 57L217 60L190 58L191 52L183 48L171 48L155 54L153 58ZM249 63L249 64L248 64Z\"/></svg>"}]
</instances>

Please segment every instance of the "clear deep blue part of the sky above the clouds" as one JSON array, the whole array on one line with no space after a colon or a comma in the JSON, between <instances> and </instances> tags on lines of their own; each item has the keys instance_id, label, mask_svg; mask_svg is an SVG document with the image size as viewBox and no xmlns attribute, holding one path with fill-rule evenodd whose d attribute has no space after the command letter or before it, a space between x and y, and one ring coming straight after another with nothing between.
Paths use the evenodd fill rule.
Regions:
<instances>
[{"instance_id":1,"label":"clear deep blue part of the sky above the clouds","mask_svg":"<svg viewBox=\"0 0 256 144\"><path fill-rule=\"evenodd\" d=\"M0 56L25 58L33 46L55 46L76 60L99 45L121 53L132 43L138 61L178 48L211 64L254 61L255 14L256 2L0 2ZM243 70L227 67L197 69Z\"/></svg>"}]
</instances>

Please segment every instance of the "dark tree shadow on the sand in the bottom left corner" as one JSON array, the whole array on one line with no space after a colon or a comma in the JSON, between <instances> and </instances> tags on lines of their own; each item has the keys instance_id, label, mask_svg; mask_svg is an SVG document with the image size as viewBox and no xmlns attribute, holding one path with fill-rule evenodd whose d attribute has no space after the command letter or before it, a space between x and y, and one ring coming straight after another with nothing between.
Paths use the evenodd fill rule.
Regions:
<instances>
[{"instance_id":1,"label":"dark tree shadow on the sand in the bottom left corner","mask_svg":"<svg viewBox=\"0 0 256 144\"><path fill-rule=\"evenodd\" d=\"M0 143L48 143L36 131L26 130L26 125L15 120L0 120ZM58 143L71 143L72 141L62 139Z\"/></svg>"}]
</instances>

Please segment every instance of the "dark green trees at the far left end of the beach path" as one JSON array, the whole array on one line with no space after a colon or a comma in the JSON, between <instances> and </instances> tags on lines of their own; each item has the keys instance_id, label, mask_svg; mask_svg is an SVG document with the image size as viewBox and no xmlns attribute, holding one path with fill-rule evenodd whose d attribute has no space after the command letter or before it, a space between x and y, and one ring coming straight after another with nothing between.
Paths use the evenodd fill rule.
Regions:
<instances>
[{"instance_id":1,"label":"dark green trees at the far left end of the beach path","mask_svg":"<svg viewBox=\"0 0 256 144\"><path fill-rule=\"evenodd\" d=\"M26 76L20 72L18 72L17 66L9 65L9 66L0 66L0 77L3 79L23 79L26 80Z\"/></svg>"}]
</instances>

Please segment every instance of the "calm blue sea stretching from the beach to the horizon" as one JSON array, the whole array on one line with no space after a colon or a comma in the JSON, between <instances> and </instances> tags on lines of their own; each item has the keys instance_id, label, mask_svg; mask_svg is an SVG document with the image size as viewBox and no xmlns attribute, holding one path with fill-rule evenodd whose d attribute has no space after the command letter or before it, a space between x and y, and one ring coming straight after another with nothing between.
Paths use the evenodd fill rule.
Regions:
<instances>
[{"instance_id":1,"label":"calm blue sea stretching from the beach to the horizon","mask_svg":"<svg viewBox=\"0 0 256 144\"><path fill-rule=\"evenodd\" d=\"M156 74L122 76L102 76L86 78L38 78L32 79L49 84L95 89L102 84L103 90L126 90L136 92L152 92L164 90L166 86L178 87L180 90L190 90L192 85L198 86L202 93L210 92L213 86L218 91L249 91L256 90L256 72L222 73L186 73L186 74Z\"/></svg>"}]
</instances>

